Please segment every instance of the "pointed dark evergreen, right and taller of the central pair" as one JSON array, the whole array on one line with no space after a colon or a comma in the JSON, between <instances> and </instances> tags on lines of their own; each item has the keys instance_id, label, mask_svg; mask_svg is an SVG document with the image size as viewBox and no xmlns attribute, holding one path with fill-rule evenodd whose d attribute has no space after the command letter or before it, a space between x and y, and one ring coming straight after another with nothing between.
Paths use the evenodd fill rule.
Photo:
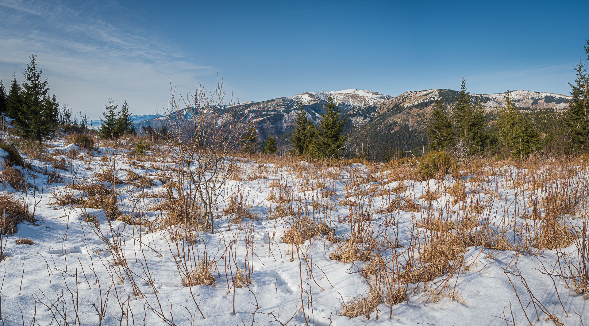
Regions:
<instances>
[{"instance_id":1,"label":"pointed dark evergreen, right and taller of the central pair","mask_svg":"<svg viewBox=\"0 0 589 326\"><path fill-rule=\"evenodd\" d=\"M339 121L340 112L333 96L329 95L327 98L326 107L319 122L319 137L316 144L312 145L312 151L322 157L339 158L343 154L343 144L348 139L342 136L342 128L346 121Z\"/></svg>"}]
</instances>

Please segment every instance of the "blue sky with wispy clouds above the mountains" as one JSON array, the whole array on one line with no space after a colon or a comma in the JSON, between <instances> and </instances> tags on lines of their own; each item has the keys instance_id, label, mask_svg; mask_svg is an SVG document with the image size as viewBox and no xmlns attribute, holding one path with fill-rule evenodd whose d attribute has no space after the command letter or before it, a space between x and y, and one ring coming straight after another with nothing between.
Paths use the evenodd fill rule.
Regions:
<instances>
[{"instance_id":1,"label":"blue sky with wispy clouds above the mountains","mask_svg":"<svg viewBox=\"0 0 589 326\"><path fill-rule=\"evenodd\" d=\"M0 0L0 78L31 52L51 92L100 118L108 98L134 114L216 86L241 102L365 88L568 94L589 38L589 1Z\"/></svg>"}]
</instances>

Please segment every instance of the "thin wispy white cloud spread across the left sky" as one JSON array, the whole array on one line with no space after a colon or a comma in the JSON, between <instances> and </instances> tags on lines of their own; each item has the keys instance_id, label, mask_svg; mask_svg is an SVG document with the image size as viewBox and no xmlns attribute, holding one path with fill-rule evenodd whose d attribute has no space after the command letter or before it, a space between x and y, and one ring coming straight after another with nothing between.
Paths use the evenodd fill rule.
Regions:
<instances>
[{"instance_id":1,"label":"thin wispy white cloud spread across the left sky","mask_svg":"<svg viewBox=\"0 0 589 326\"><path fill-rule=\"evenodd\" d=\"M213 68L194 64L162 36L130 25L136 17L116 2L75 3L0 0L0 78L21 81L32 52L58 101L91 118L109 98L126 99L133 114L167 105L170 80L190 89ZM99 18L108 14L109 21Z\"/></svg>"}]
</instances>

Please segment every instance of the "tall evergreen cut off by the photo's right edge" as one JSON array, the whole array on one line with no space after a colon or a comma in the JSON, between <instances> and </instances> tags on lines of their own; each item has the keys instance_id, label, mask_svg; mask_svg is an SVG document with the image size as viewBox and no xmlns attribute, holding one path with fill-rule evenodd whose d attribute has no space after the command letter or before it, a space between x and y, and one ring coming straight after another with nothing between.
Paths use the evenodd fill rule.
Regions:
<instances>
[{"instance_id":1,"label":"tall evergreen cut off by the photo's right edge","mask_svg":"<svg viewBox=\"0 0 589 326\"><path fill-rule=\"evenodd\" d=\"M567 139L567 150L569 152L581 152L587 149L588 125L587 125L587 82L586 70L583 64L575 65L575 84L568 83L571 87L571 97L568 102L568 111L564 115L562 132Z\"/></svg>"}]
</instances>

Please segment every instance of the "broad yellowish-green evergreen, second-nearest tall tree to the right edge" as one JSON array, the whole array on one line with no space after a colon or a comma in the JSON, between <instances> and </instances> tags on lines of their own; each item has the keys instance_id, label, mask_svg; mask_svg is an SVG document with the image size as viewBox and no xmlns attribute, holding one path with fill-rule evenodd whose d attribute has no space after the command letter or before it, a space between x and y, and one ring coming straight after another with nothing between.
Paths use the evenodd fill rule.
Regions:
<instances>
[{"instance_id":1,"label":"broad yellowish-green evergreen, second-nearest tall tree to the right edge","mask_svg":"<svg viewBox=\"0 0 589 326\"><path fill-rule=\"evenodd\" d=\"M511 94L505 94L505 105L499 108L498 139L504 155L527 157L542 148L540 132L534 121L517 110Z\"/></svg>"}]
</instances>

